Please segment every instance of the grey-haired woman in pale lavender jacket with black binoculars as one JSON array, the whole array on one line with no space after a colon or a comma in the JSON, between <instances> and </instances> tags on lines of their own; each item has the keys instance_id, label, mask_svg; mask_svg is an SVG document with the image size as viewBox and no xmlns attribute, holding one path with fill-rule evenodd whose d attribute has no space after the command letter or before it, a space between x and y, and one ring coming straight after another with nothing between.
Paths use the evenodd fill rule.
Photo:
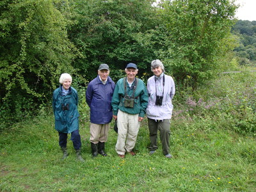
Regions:
<instances>
[{"instance_id":1,"label":"grey-haired woman in pale lavender jacket with black binoculars","mask_svg":"<svg viewBox=\"0 0 256 192\"><path fill-rule=\"evenodd\" d=\"M148 129L150 137L149 154L157 150L157 131L160 132L163 154L172 158L170 154L170 120L172 118L172 99L175 94L175 84L171 76L164 74L164 65L160 60L151 62L154 76L147 82L148 91Z\"/></svg>"}]
</instances>

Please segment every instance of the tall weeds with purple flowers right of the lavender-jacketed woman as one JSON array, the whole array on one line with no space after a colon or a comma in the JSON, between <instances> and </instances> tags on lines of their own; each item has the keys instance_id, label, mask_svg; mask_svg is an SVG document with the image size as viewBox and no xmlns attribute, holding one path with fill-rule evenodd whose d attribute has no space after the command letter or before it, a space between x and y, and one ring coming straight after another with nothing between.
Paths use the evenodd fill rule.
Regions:
<instances>
[{"instance_id":1,"label":"tall weeds with purple flowers right of the lavender-jacketed woman","mask_svg":"<svg viewBox=\"0 0 256 192\"><path fill-rule=\"evenodd\" d=\"M255 77L255 72L246 71L221 74L196 92L181 95L182 108L174 111L173 118L184 118L186 127L193 131L225 127L239 134L256 136ZM175 98L180 100L179 96Z\"/></svg>"}]
</instances>

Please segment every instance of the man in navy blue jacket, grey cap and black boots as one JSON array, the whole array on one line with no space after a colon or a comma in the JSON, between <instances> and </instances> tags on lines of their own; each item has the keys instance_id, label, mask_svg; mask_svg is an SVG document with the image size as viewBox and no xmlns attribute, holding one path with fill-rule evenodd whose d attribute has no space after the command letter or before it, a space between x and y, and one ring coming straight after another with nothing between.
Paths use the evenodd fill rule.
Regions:
<instances>
[{"instance_id":1,"label":"man in navy blue jacket, grey cap and black boots","mask_svg":"<svg viewBox=\"0 0 256 192\"><path fill-rule=\"evenodd\" d=\"M107 156L104 148L108 140L109 123L113 117L111 99L114 89L115 83L109 77L109 66L101 64L98 76L88 84L86 90L86 102L90 107L90 142L93 157L98 153Z\"/></svg>"}]
</instances>

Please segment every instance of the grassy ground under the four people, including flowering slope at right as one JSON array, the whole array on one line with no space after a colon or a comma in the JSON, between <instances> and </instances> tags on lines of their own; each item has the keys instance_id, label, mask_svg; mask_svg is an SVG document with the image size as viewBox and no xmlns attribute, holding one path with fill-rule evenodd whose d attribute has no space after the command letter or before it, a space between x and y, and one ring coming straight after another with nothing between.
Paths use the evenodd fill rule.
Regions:
<instances>
[{"instance_id":1,"label":"grassy ground under the four people, including flowering slope at right","mask_svg":"<svg viewBox=\"0 0 256 192\"><path fill-rule=\"evenodd\" d=\"M62 161L53 115L44 110L1 132L0 191L256 191L255 79L255 73L228 74L176 95L182 99L173 100L172 159L161 143L148 155L147 120L136 156L116 155L111 129L108 157L92 159L88 108L80 106L85 162L76 160L72 141Z\"/></svg>"}]
</instances>

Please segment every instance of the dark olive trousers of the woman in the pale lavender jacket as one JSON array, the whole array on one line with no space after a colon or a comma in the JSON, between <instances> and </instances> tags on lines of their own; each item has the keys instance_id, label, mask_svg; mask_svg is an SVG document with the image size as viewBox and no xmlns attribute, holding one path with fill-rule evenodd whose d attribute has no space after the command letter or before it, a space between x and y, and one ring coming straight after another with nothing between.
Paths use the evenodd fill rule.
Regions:
<instances>
[{"instance_id":1,"label":"dark olive trousers of the woman in the pale lavender jacket","mask_svg":"<svg viewBox=\"0 0 256 192\"><path fill-rule=\"evenodd\" d=\"M148 130L149 130L149 138L150 138L150 150L157 150L157 131L160 132L160 140L162 143L163 154L169 154L170 150L170 120L154 120L148 118Z\"/></svg>"}]
</instances>

